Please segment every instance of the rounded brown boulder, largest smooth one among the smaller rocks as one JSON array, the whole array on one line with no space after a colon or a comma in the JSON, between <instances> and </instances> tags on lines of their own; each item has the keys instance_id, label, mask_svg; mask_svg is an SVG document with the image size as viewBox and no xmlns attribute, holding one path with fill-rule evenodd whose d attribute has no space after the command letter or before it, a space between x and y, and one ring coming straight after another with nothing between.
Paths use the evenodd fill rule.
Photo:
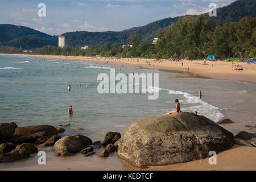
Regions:
<instances>
[{"instance_id":1,"label":"rounded brown boulder, largest smooth one among the smaller rocks","mask_svg":"<svg viewBox=\"0 0 256 182\"><path fill-rule=\"evenodd\" d=\"M70 153L80 152L84 144L80 139L67 135L54 144L53 149L56 156L68 156Z\"/></svg>"}]
</instances>

